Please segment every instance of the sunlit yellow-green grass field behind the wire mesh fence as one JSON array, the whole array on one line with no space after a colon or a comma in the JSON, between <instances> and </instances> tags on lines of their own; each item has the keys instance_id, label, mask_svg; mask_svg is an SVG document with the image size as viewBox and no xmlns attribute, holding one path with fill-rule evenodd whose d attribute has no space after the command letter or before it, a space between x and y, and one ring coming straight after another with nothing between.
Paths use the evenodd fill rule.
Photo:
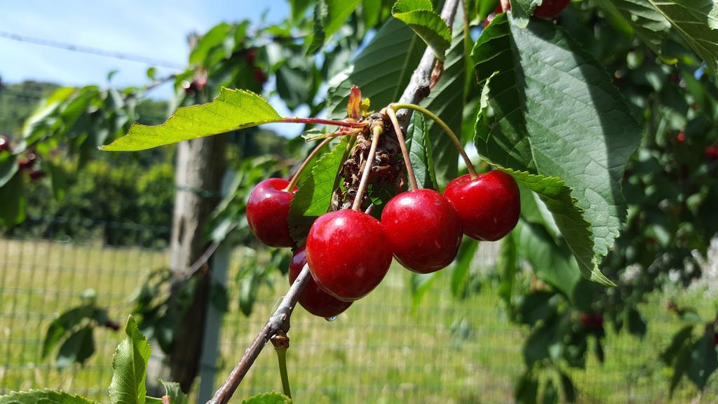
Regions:
<instances>
[{"instance_id":1,"label":"sunlit yellow-green grass field behind the wire mesh fence","mask_svg":"<svg viewBox=\"0 0 718 404\"><path fill-rule=\"evenodd\" d=\"M94 288L111 316L123 321L128 295L141 277L166 265L166 252L55 242L0 239L0 392L37 387L62 388L108 403L111 357L121 333L98 330L97 352L84 367L60 371L52 357L40 357L47 324L79 303ZM220 336L218 385L286 290L285 279L263 287L249 317L238 310L230 266L230 313ZM368 298L354 303L335 321L298 308L292 317L289 373L297 403L509 403L513 381L523 372L521 344L526 329L510 324L490 287L467 300L453 300L444 276L411 311L408 275L391 268ZM679 295L708 316L713 302L699 293ZM609 332L606 362L591 354L587 369L572 373L581 403L669 402L669 375L658 362L680 323L663 308L663 297L646 303L648 334L643 340ZM268 347L237 392L281 390L276 356ZM718 377L702 402L717 400ZM712 390L710 390L712 389ZM673 402L686 403L697 392L682 383Z\"/></svg>"}]
</instances>

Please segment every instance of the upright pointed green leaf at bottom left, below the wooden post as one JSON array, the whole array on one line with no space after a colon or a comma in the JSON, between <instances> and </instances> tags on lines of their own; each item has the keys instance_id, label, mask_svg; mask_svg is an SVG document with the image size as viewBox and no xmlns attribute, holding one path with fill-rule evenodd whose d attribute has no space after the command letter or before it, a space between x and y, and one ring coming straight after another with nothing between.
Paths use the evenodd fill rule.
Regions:
<instances>
[{"instance_id":1,"label":"upright pointed green leaf at bottom left, below the wooden post","mask_svg":"<svg viewBox=\"0 0 718 404\"><path fill-rule=\"evenodd\" d=\"M149 342L137 328L133 316L127 319L125 334L126 339L117 346L112 358L110 401L112 404L144 404Z\"/></svg>"}]
</instances>

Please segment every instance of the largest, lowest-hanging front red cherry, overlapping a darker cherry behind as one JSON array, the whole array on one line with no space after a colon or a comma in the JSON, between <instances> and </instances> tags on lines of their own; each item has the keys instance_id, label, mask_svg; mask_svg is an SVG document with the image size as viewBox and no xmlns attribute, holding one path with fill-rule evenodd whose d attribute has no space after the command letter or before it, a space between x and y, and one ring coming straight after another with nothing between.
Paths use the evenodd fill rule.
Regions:
<instances>
[{"instance_id":1,"label":"largest, lowest-hanging front red cherry, overlapping a darker cherry behind","mask_svg":"<svg viewBox=\"0 0 718 404\"><path fill-rule=\"evenodd\" d=\"M340 300L358 300L376 288L391 256L383 224L363 212L330 212L309 229L307 261L312 277Z\"/></svg>"}]
</instances>

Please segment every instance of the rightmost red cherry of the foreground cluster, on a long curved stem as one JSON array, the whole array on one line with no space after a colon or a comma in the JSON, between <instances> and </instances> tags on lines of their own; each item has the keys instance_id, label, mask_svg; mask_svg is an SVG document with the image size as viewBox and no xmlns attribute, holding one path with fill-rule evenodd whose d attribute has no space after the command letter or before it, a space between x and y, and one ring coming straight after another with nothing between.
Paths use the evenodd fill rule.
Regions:
<instances>
[{"instance_id":1,"label":"rightmost red cherry of the foreground cluster, on a long curved stem","mask_svg":"<svg viewBox=\"0 0 718 404\"><path fill-rule=\"evenodd\" d=\"M471 178L462 175L447 185L444 195L461 216L464 234L494 242L516 226L521 213L518 185L510 175L493 170Z\"/></svg>"}]
</instances>

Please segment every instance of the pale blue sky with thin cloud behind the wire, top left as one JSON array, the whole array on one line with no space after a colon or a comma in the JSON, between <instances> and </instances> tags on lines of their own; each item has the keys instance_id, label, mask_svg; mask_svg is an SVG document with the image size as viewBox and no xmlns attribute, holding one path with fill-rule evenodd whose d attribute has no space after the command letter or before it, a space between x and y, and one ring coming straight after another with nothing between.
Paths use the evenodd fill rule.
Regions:
<instances>
[{"instance_id":1,"label":"pale blue sky with thin cloud behind the wire, top left","mask_svg":"<svg viewBox=\"0 0 718 404\"><path fill-rule=\"evenodd\" d=\"M251 19L269 23L289 15L286 0L0 0L0 31L15 35L97 47L185 65L189 32L206 32L220 22ZM0 37L0 77L6 83L51 81L65 86L107 86L107 73L118 70L113 86L147 83L149 66ZM171 73L158 68L158 75ZM171 90L152 94L167 98ZM283 113L286 111L280 111ZM297 111L299 114L301 111ZM286 127L276 127L284 134Z\"/></svg>"}]
</instances>

